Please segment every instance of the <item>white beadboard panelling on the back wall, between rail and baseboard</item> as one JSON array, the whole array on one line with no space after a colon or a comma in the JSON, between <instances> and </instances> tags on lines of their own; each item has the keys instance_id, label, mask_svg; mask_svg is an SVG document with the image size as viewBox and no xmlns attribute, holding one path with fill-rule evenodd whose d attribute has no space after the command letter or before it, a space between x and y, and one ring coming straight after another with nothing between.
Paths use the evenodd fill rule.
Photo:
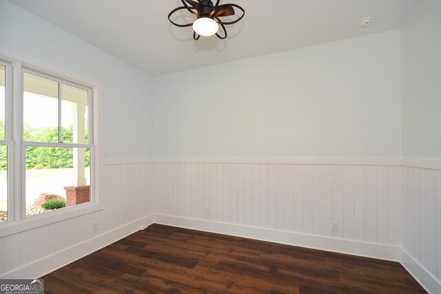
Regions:
<instances>
[{"instance_id":1,"label":"white beadboard panelling on the back wall, between rail and baseboard","mask_svg":"<svg viewBox=\"0 0 441 294\"><path fill-rule=\"evenodd\" d=\"M156 213L400 245L401 167L155 162ZM331 229L338 223L338 230Z\"/></svg>"}]
</instances>

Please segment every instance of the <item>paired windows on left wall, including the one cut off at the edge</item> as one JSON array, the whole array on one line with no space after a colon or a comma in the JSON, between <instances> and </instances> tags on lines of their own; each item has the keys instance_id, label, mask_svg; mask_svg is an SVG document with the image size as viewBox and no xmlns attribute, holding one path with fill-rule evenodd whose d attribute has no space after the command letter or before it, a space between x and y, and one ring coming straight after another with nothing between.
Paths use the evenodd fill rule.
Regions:
<instances>
[{"instance_id":1,"label":"paired windows on left wall, including the one cut off at the edge","mask_svg":"<svg viewBox=\"0 0 441 294\"><path fill-rule=\"evenodd\" d=\"M0 59L0 227L100 209L93 205L93 100L91 87Z\"/></svg>"}]
</instances>

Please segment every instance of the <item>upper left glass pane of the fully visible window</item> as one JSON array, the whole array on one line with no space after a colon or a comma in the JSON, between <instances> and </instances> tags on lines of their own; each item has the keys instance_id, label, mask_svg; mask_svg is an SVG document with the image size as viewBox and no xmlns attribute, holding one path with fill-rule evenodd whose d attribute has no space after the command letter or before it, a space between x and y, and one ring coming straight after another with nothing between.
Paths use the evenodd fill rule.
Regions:
<instances>
[{"instance_id":1,"label":"upper left glass pane of the fully visible window","mask_svg":"<svg viewBox=\"0 0 441 294\"><path fill-rule=\"evenodd\" d=\"M58 142L59 83L25 72L23 76L23 138Z\"/></svg>"}]
</instances>

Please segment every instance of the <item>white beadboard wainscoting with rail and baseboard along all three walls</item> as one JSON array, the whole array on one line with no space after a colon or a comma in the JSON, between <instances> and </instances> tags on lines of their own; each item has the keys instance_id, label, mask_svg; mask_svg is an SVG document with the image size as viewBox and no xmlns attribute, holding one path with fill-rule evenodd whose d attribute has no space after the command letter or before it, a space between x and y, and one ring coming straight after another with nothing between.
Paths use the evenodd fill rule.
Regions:
<instances>
[{"instance_id":1,"label":"white beadboard wainscoting with rail and baseboard along all three walls","mask_svg":"<svg viewBox=\"0 0 441 294\"><path fill-rule=\"evenodd\" d=\"M110 160L103 168L103 210L4 235L0 277L39 277L157 220L400 260L439 293L441 165L406 162ZM91 230L95 221L98 231Z\"/></svg>"}]
</instances>

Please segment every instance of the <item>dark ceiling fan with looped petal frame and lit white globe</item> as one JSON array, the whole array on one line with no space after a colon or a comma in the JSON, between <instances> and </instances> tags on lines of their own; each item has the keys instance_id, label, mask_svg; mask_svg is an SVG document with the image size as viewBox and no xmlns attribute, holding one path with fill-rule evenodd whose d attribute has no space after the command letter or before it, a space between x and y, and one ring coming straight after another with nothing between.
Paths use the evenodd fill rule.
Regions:
<instances>
[{"instance_id":1,"label":"dark ceiling fan with looped petal frame and lit white globe","mask_svg":"<svg viewBox=\"0 0 441 294\"><path fill-rule=\"evenodd\" d=\"M216 34L219 39L227 38L227 30L225 29L225 25L232 25L237 23L241 19L243 19L245 15L245 10L238 6L237 4L229 3L219 5L220 0L216 0L216 4L214 5L211 0L181 0L183 6L175 8L168 14L168 20L180 28L193 26L193 39L198 40L201 36L212 36ZM234 21L221 21L220 17L230 17L236 14L234 8L238 8L242 12L242 15L238 17L238 19ZM175 23L170 19L174 12L179 10L187 10L189 13L196 17L196 20L193 23L185 23L179 24ZM222 28L223 36L218 34L218 30Z\"/></svg>"}]
</instances>

